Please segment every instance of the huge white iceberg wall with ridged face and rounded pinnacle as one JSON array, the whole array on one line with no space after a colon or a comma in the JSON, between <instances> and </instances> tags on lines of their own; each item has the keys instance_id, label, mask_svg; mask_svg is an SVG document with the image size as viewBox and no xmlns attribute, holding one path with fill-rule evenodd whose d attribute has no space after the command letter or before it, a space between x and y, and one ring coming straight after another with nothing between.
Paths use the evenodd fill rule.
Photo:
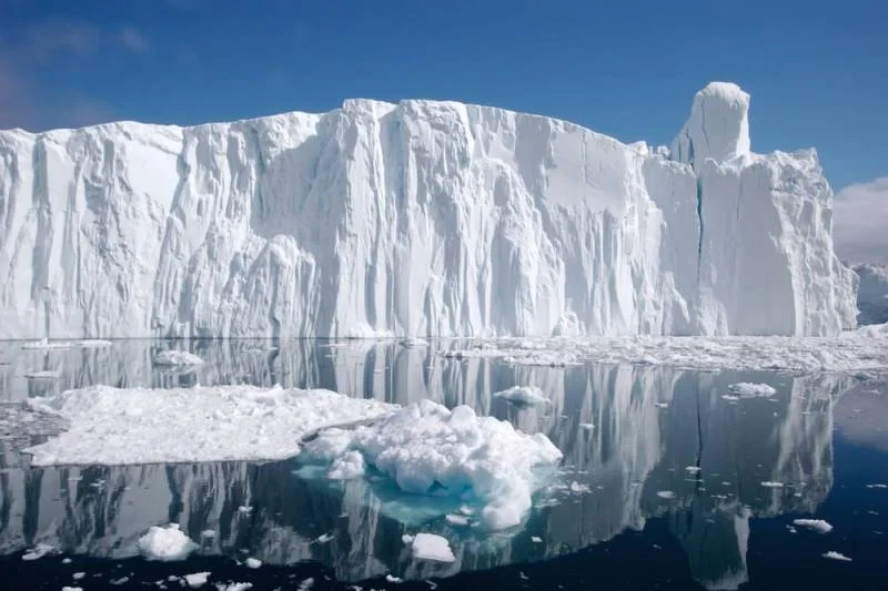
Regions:
<instances>
[{"instance_id":1,"label":"huge white iceberg wall with ridged face and rounded pinnacle","mask_svg":"<svg viewBox=\"0 0 888 591\"><path fill-rule=\"evenodd\" d=\"M831 191L748 105L672 150L432 101L0 132L0 337L837 334Z\"/></svg>"}]
</instances>

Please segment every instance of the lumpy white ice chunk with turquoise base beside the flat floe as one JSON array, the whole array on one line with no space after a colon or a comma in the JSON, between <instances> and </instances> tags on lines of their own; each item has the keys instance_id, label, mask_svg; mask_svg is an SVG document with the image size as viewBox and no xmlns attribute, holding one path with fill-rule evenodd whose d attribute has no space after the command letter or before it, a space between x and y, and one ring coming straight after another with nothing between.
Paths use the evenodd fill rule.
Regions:
<instances>
[{"instance_id":1,"label":"lumpy white ice chunk with turquoise base beside the flat floe","mask_svg":"<svg viewBox=\"0 0 888 591\"><path fill-rule=\"evenodd\" d=\"M373 425L322 431L300 459L324 463L352 451L404 492L464 498L470 491L483 506L481 522L491 530L519 523L531 509L531 495L545 483L539 471L562 459L543 434L526 435L507 421L478 417L467 406L447 410L431 400Z\"/></svg>"}]
</instances>

